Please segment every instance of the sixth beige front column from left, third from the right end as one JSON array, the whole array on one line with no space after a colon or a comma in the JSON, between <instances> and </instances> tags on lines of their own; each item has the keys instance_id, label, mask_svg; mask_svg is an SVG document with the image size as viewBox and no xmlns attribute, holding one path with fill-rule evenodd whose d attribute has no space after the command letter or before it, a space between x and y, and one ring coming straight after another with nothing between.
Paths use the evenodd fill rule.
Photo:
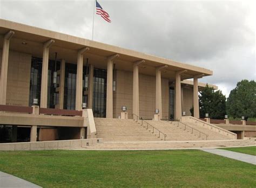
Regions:
<instances>
[{"instance_id":1,"label":"sixth beige front column from left, third from the right end","mask_svg":"<svg viewBox=\"0 0 256 188\"><path fill-rule=\"evenodd\" d=\"M168 67L167 65L156 68L156 109L159 109L159 118L162 119L162 89L161 89L161 69Z\"/></svg>"}]
</instances>

